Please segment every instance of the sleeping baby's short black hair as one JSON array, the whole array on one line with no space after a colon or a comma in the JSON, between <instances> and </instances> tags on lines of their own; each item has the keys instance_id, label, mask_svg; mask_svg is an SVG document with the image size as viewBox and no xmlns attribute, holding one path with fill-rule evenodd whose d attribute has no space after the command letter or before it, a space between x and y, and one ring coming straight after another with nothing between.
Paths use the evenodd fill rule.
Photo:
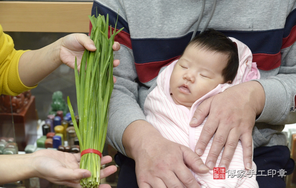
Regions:
<instances>
[{"instance_id":1,"label":"sleeping baby's short black hair","mask_svg":"<svg viewBox=\"0 0 296 188\"><path fill-rule=\"evenodd\" d=\"M239 67L239 55L237 45L226 35L214 29L207 29L194 37L186 46L196 46L203 50L214 51L228 55L226 67L222 71L225 83L233 81ZM183 52L184 53L184 52ZM183 55L183 54L182 54Z\"/></svg>"}]
</instances>

